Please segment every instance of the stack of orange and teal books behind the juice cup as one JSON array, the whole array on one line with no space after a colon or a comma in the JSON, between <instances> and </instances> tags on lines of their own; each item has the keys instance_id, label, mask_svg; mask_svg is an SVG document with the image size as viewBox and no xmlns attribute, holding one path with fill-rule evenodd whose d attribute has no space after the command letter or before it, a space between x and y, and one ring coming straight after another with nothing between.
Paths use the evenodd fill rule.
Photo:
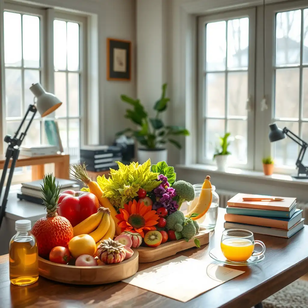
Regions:
<instances>
[{"instance_id":1,"label":"stack of orange and teal books behind the juice cup","mask_svg":"<svg viewBox=\"0 0 308 308\"><path fill-rule=\"evenodd\" d=\"M228 201L225 229L245 229L253 233L289 238L304 227L296 198L282 201L243 201L243 198L280 198L238 193Z\"/></svg>"}]
</instances>

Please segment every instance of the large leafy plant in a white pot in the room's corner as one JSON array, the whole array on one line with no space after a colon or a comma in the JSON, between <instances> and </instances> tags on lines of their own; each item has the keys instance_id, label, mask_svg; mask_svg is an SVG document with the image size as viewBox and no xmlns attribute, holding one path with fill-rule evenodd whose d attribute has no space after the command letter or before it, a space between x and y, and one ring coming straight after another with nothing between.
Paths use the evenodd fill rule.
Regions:
<instances>
[{"instance_id":1,"label":"large leafy plant in a white pot in the room's corner","mask_svg":"<svg viewBox=\"0 0 308 308\"><path fill-rule=\"evenodd\" d=\"M162 113L166 111L170 99L166 97L167 83L162 86L162 94L160 99L154 103L153 109L156 112L155 117L150 117L148 112L144 110L144 106L139 99L133 99L127 95L121 95L121 99L132 106L127 109L125 118L132 120L137 125L136 129L126 128L116 135L127 134L136 138L140 144L138 148L138 162L143 164L149 158L152 164L159 161L167 161L167 150L165 145L170 142L176 148L180 149L181 144L173 139L173 136L188 136L189 132L186 128L169 125L166 126L161 119Z\"/></svg>"}]
</instances>

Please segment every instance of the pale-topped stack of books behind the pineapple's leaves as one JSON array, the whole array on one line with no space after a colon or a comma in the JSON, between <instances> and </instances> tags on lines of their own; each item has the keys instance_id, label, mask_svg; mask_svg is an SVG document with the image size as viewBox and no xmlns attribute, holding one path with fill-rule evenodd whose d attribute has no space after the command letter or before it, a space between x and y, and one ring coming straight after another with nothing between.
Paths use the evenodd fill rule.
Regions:
<instances>
[{"instance_id":1,"label":"pale-topped stack of books behind the pineapple's leaves","mask_svg":"<svg viewBox=\"0 0 308 308\"><path fill-rule=\"evenodd\" d=\"M56 178L56 183L57 182L59 182L59 185L61 186L60 193L69 189L78 191L80 188L76 181ZM41 192L41 185L43 185L43 179L22 183L21 192L17 194L17 198L20 200L26 200L37 204L43 204L43 193Z\"/></svg>"}]
</instances>

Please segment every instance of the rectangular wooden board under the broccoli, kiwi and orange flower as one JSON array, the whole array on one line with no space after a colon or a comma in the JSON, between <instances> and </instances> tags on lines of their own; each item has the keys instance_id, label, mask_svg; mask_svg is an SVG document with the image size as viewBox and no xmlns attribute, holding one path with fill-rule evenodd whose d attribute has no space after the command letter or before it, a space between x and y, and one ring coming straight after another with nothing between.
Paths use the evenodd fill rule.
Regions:
<instances>
[{"instance_id":1,"label":"rectangular wooden board under the broccoli, kiwi and orange flower","mask_svg":"<svg viewBox=\"0 0 308 308\"><path fill-rule=\"evenodd\" d=\"M200 245L208 244L210 241L210 231L204 228L200 228L195 237L200 241ZM176 253L186 250L192 247L196 247L193 239L186 242L184 239L178 241L171 241L161 244L157 247L138 247L139 262L147 263L157 261L166 257L175 255Z\"/></svg>"}]
</instances>

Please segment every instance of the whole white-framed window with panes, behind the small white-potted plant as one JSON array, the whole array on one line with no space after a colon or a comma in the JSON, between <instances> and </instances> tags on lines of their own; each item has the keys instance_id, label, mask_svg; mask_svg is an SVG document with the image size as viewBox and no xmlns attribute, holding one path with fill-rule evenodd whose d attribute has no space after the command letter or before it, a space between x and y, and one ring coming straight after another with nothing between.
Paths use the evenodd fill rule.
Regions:
<instances>
[{"instance_id":1,"label":"whole white-framed window with panes, behind the small white-potted plant","mask_svg":"<svg viewBox=\"0 0 308 308\"><path fill-rule=\"evenodd\" d=\"M255 10L199 18L198 162L231 133L231 165L253 167Z\"/></svg>"}]
</instances>

